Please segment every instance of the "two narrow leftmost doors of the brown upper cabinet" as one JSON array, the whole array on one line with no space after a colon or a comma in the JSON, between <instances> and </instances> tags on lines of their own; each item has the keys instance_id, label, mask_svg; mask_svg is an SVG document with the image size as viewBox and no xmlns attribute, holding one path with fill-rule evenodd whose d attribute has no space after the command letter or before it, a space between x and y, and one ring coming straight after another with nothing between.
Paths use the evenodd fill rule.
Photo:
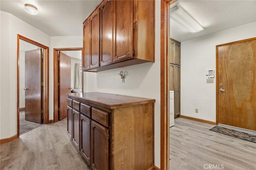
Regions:
<instances>
[{"instance_id":1,"label":"two narrow leftmost doors of the brown upper cabinet","mask_svg":"<svg viewBox=\"0 0 256 170\"><path fill-rule=\"evenodd\" d=\"M97 8L84 21L83 70L98 67L100 56L100 9Z\"/></svg>"}]
</instances>

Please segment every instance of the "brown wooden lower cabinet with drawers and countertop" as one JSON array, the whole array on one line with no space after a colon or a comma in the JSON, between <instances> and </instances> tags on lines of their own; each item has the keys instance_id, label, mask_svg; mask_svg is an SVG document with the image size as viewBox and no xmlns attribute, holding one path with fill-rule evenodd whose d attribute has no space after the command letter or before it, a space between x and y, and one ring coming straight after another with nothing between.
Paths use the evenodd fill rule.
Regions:
<instances>
[{"instance_id":1,"label":"brown wooden lower cabinet with drawers and countertop","mask_svg":"<svg viewBox=\"0 0 256 170\"><path fill-rule=\"evenodd\" d=\"M154 169L155 100L86 94L94 94L92 101L68 94L68 136L91 169ZM122 100L126 103L120 104Z\"/></svg>"}]
</instances>

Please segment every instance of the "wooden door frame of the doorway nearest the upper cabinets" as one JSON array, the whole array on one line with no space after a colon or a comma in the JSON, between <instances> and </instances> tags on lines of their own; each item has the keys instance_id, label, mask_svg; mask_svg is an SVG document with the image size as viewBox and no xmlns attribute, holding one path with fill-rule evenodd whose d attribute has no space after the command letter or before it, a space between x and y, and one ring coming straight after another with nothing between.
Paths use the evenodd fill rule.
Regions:
<instances>
[{"instance_id":1,"label":"wooden door frame of the doorway nearest the upper cabinets","mask_svg":"<svg viewBox=\"0 0 256 170\"><path fill-rule=\"evenodd\" d=\"M54 48L53 49L53 122L58 121L58 52L59 51L82 51L83 48ZM82 56L81 56L82 57ZM82 58L81 58L82 60ZM83 64L83 61L82 61ZM83 66L83 65L82 65ZM82 87L83 87L84 76L82 74ZM82 92L83 92L82 88Z\"/></svg>"}]
</instances>

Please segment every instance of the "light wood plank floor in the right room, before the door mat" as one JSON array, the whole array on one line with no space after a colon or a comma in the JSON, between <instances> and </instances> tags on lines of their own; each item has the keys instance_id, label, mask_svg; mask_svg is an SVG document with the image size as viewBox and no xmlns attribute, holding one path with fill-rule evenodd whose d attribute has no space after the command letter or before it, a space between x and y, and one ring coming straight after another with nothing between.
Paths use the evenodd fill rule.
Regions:
<instances>
[{"instance_id":1,"label":"light wood plank floor in the right room, before the door mat","mask_svg":"<svg viewBox=\"0 0 256 170\"><path fill-rule=\"evenodd\" d=\"M256 143L213 131L184 118L170 128L170 170L256 170Z\"/></svg>"}]
</instances>

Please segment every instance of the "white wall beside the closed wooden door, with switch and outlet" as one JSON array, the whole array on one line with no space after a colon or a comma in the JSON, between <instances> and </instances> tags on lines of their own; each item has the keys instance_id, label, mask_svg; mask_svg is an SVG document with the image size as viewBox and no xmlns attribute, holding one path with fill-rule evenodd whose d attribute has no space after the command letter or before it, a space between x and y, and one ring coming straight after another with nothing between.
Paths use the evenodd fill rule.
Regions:
<instances>
[{"instance_id":1,"label":"white wall beside the closed wooden door, with switch and outlet","mask_svg":"<svg viewBox=\"0 0 256 170\"><path fill-rule=\"evenodd\" d=\"M181 115L216 121L216 75L206 84L206 70L216 71L216 45L252 37L256 22L181 42Z\"/></svg>"}]
</instances>

